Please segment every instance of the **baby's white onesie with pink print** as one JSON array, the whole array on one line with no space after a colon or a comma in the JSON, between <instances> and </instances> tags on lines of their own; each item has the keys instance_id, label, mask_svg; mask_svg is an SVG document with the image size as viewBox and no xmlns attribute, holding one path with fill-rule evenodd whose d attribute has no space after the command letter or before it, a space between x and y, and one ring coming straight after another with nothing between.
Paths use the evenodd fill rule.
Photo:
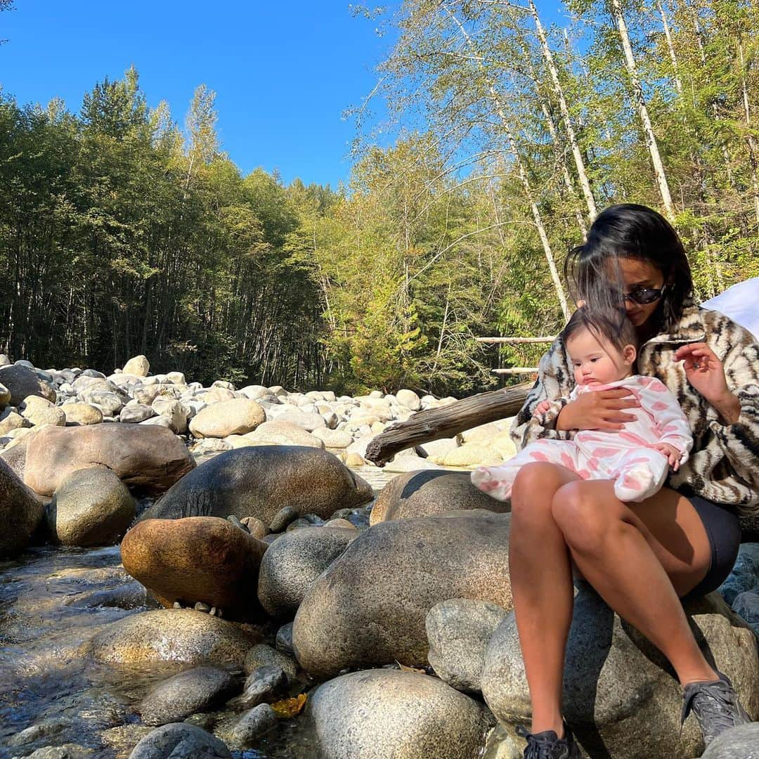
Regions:
<instances>
[{"instance_id":1,"label":"baby's white onesie with pink print","mask_svg":"<svg viewBox=\"0 0 759 759\"><path fill-rule=\"evenodd\" d=\"M680 464L688 460L693 445L688 420L677 399L656 377L634 376L606 385L577 385L568 400L586 392L623 387L641 408L626 412L636 419L623 430L580 430L572 440L538 439L509 461L492 467L478 467L471 474L480 490L499 501L508 500L519 468L532 461L549 461L579 474L584 480L613 480L620 501L642 501L662 487L669 473L669 461L653 446L666 442L680 452ZM554 401L559 408L562 401ZM554 415L555 418L555 415Z\"/></svg>"}]
</instances>

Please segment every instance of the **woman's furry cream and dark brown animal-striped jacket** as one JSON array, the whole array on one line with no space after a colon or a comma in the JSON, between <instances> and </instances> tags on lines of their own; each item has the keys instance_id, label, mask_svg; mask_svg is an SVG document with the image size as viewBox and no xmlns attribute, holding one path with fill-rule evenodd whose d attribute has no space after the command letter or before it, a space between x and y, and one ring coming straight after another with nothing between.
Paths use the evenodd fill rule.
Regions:
<instances>
[{"instance_id":1,"label":"woman's furry cream and dark brown animal-striped jacket","mask_svg":"<svg viewBox=\"0 0 759 759\"><path fill-rule=\"evenodd\" d=\"M725 424L720 414L685 379L682 361L673 354L680 345L705 342L725 368L729 390L741 405L739 420ZM718 311L685 304L676 329L656 335L638 350L638 373L660 379L678 399L693 433L691 457L667 484L686 495L732 506L742 517L759 515L759 344L754 335ZM575 386L562 335L540 359L538 379L512 424L518 448L535 439L571 439L572 430L556 430L556 417ZM533 417L543 400L546 414Z\"/></svg>"}]
</instances>

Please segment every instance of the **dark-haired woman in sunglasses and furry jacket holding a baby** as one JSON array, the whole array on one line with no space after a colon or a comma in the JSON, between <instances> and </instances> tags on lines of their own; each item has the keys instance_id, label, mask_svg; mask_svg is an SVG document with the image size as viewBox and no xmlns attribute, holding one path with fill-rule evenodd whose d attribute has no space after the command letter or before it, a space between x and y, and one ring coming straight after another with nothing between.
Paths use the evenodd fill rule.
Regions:
<instances>
[{"instance_id":1,"label":"dark-haired woman in sunglasses and furry jacket holding a baby","mask_svg":"<svg viewBox=\"0 0 759 759\"><path fill-rule=\"evenodd\" d=\"M573 565L669 659L685 689L683 720L692 710L708 743L748 716L729 680L704 659L680 599L722 584L738 553L737 514L759 509L759 345L727 317L694 305L682 243L645 206L606 209L565 273L590 310L624 304L638 335L638 371L675 393L694 446L669 487L640 503L616 499L612 482L581 480L558 465L536 462L519 472L509 565L532 702L524 756L580 756L561 710ZM541 401L567 396L573 384L559 335L512 428L518 446L621 429L631 418L625 409L638 405L613 389L565 403L547 420L533 416Z\"/></svg>"}]
</instances>

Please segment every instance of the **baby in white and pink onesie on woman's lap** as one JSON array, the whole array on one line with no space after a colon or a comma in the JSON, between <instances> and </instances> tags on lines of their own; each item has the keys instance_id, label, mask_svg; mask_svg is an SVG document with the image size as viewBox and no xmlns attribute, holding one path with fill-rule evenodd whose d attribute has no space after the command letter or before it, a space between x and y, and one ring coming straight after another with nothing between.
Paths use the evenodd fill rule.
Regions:
<instances>
[{"instance_id":1,"label":"baby in white and pink onesie on woman's lap","mask_svg":"<svg viewBox=\"0 0 759 759\"><path fill-rule=\"evenodd\" d=\"M666 480L669 466L677 471L693 445L690 427L677 399L655 377L633 374L635 329L624 318L619 329L609 320L594 320L578 309L564 328L567 353L577 385L568 398L542 401L534 415L552 407L559 411L586 392L623 387L640 408L627 411L635 421L623 430L579 430L572 440L538 439L502 465L478 467L471 479L499 501L509 499L519 468L532 461L562 465L584 480L613 480L620 501L642 501Z\"/></svg>"}]
</instances>

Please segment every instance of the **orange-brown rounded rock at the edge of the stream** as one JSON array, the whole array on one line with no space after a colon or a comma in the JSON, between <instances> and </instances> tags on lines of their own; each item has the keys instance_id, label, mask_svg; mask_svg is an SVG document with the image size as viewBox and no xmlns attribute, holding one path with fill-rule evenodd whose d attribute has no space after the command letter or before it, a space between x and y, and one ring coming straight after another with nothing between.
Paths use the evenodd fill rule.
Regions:
<instances>
[{"instance_id":1,"label":"orange-brown rounded rock at the edge of the stream","mask_svg":"<svg viewBox=\"0 0 759 759\"><path fill-rule=\"evenodd\" d=\"M207 603L228 619L259 612L258 571L266 543L219 517L146 519L121 543L124 569L165 606Z\"/></svg>"}]
</instances>

